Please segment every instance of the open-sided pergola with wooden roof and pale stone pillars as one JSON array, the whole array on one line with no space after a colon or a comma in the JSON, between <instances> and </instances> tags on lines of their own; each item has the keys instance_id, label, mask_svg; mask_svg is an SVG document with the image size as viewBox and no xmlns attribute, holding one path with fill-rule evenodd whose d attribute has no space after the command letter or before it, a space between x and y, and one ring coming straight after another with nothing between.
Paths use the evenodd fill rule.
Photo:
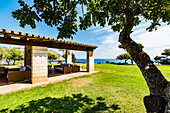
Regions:
<instances>
[{"instance_id":1,"label":"open-sided pergola with wooden roof and pale stone pillars","mask_svg":"<svg viewBox=\"0 0 170 113\"><path fill-rule=\"evenodd\" d=\"M66 49L66 63L71 63L71 50L87 52L87 71L94 71L94 50L97 46L35 36L22 32L7 32L0 30L0 43L25 46L25 66L31 66L32 83L47 81L47 51L48 48Z\"/></svg>"}]
</instances>

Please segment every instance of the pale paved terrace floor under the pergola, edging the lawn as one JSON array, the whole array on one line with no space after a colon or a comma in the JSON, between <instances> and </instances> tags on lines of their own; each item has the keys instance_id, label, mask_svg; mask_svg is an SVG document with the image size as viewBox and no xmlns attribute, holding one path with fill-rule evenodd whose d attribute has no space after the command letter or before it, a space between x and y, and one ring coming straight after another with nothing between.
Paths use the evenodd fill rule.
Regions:
<instances>
[{"instance_id":1,"label":"pale paved terrace floor under the pergola, edging the lawn","mask_svg":"<svg viewBox=\"0 0 170 113\"><path fill-rule=\"evenodd\" d=\"M97 72L98 71L87 72L86 70L81 70L80 72L69 73L69 74L54 73L49 75L47 82L36 83L36 84L30 84L28 82L0 83L0 94L7 94L19 90L30 89L32 87L47 85L47 84L64 81L80 76L91 75Z\"/></svg>"}]
</instances>

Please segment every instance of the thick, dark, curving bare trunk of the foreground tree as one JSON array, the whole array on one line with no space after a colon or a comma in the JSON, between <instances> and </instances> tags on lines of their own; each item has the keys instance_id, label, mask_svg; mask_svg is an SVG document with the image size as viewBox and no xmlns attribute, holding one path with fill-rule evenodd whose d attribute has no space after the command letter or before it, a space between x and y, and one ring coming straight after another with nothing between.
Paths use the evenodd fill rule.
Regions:
<instances>
[{"instance_id":1,"label":"thick, dark, curving bare trunk of the foreground tree","mask_svg":"<svg viewBox=\"0 0 170 113\"><path fill-rule=\"evenodd\" d=\"M170 113L170 82L164 78L150 57L130 38L133 20L133 10L127 9L125 25L120 32L119 42L132 56L149 87L150 95L144 97L146 111L148 113Z\"/></svg>"}]
</instances>

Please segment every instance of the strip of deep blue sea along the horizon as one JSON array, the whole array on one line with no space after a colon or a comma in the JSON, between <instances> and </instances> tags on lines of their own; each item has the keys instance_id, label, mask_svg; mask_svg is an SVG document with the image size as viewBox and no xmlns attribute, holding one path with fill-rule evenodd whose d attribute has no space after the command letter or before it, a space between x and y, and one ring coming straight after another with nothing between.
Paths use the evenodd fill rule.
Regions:
<instances>
[{"instance_id":1,"label":"strip of deep blue sea along the horizon","mask_svg":"<svg viewBox=\"0 0 170 113\"><path fill-rule=\"evenodd\" d=\"M124 63L125 62L125 60L118 60L118 59L94 59L94 63L106 63L106 61L109 61L109 63ZM58 61L52 61L52 63L55 63L55 62L58 62ZM66 60L62 60L62 62L66 62ZM87 63L87 60L86 59L76 59L76 62ZM127 60L127 63L131 64L131 61Z\"/></svg>"}]
</instances>

